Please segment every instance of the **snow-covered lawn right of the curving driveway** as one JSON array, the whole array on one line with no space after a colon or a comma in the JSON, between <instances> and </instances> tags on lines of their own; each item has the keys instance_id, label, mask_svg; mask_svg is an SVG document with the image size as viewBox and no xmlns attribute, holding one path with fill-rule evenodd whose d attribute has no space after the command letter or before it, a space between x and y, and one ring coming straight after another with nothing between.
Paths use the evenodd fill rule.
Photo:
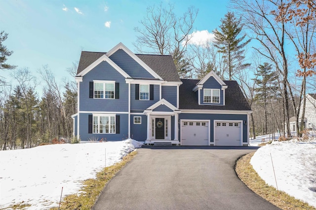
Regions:
<instances>
[{"instance_id":1,"label":"snow-covered lawn right of the curving driveway","mask_svg":"<svg viewBox=\"0 0 316 210\"><path fill-rule=\"evenodd\" d=\"M250 141L250 145L261 143L262 138ZM250 163L266 183L276 188L277 182L279 190L316 207L316 138L308 142L274 141L258 149Z\"/></svg>"}]
</instances>

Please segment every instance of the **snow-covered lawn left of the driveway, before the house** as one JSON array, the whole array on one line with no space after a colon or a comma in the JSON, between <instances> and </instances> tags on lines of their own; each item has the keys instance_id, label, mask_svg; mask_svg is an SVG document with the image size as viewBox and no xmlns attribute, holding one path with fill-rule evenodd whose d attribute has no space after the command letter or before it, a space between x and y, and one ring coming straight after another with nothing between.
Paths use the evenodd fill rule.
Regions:
<instances>
[{"instance_id":1,"label":"snow-covered lawn left of the driveway, before the house","mask_svg":"<svg viewBox=\"0 0 316 210\"><path fill-rule=\"evenodd\" d=\"M21 202L31 205L28 210L58 207L62 187L63 197L78 193L81 181L140 147L127 139L0 151L0 208Z\"/></svg>"}]
</instances>

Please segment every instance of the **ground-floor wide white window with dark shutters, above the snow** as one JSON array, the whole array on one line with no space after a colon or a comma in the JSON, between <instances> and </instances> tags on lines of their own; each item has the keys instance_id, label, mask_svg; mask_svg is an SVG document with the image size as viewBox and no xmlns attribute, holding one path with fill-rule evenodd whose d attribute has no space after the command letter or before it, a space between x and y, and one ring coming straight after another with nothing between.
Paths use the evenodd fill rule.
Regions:
<instances>
[{"instance_id":1,"label":"ground-floor wide white window with dark shutters, above the snow","mask_svg":"<svg viewBox=\"0 0 316 210\"><path fill-rule=\"evenodd\" d=\"M115 133L115 116L93 116L93 133Z\"/></svg>"}]
</instances>

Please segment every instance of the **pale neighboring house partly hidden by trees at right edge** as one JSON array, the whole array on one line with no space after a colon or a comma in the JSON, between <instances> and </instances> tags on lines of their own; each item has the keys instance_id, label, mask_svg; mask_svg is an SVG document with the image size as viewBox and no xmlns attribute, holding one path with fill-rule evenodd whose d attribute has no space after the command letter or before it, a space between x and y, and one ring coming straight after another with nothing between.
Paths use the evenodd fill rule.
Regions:
<instances>
[{"instance_id":1,"label":"pale neighboring house partly hidden by trees at right edge","mask_svg":"<svg viewBox=\"0 0 316 210\"><path fill-rule=\"evenodd\" d=\"M303 101L301 102L299 125L301 125L303 112ZM308 130L316 130L316 93L308 93L306 95L306 106L304 115L304 127ZM290 118L290 131L296 132L296 119L295 117Z\"/></svg>"}]
</instances>

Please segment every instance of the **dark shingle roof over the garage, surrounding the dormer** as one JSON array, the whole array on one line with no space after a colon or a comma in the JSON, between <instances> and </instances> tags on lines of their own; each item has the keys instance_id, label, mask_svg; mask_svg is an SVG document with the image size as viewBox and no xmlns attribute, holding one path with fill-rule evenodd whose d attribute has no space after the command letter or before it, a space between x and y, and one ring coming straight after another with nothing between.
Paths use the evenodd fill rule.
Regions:
<instances>
[{"instance_id":1,"label":"dark shingle roof over the garage, surrounding the dormer","mask_svg":"<svg viewBox=\"0 0 316 210\"><path fill-rule=\"evenodd\" d=\"M199 80L181 79L182 85L180 86L180 104L179 109L200 109L200 110L251 110L248 102L243 96L236 81L224 81L228 86L225 90L225 106L219 105L198 105L197 93L193 88Z\"/></svg>"}]
</instances>

